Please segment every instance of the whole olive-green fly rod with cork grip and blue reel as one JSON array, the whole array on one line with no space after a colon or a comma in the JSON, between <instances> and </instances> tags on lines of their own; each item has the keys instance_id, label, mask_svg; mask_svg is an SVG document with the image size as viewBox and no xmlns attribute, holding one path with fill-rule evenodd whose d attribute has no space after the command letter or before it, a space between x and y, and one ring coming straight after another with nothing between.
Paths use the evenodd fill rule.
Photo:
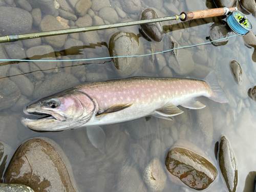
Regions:
<instances>
[{"instance_id":1,"label":"whole olive-green fly rod with cork grip and blue reel","mask_svg":"<svg viewBox=\"0 0 256 192\"><path fill-rule=\"evenodd\" d=\"M27 34L20 34L20 35L6 35L6 36L0 36L0 43L12 42L12 41L23 40L23 39L38 38L38 37L48 37L48 36L54 36L54 35L64 35L64 34L70 34L70 33L80 33L80 32L96 31L96 30L102 30L102 29L127 27L127 26L133 26L133 25L150 24L150 23L156 23L156 22L165 22L168 20L180 19L184 22L190 19L215 17L215 16L222 16L222 15L228 15L228 14L229 16L227 18L227 23L235 33L243 36L252 29L252 26L248 18L243 13L238 11L236 7L231 7L231 8L224 7L224 8L216 8L216 9L206 9L201 11L193 11L193 12L182 12L180 15L175 15L175 16L137 20L133 22L124 22L124 23L118 23L118 24L107 24L107 25L100 25L100 26L81 27L81 28L75 28L75 29L63 29L63 30L56 30L56 31L27 33Z\"/></svg>"}]
</instances>

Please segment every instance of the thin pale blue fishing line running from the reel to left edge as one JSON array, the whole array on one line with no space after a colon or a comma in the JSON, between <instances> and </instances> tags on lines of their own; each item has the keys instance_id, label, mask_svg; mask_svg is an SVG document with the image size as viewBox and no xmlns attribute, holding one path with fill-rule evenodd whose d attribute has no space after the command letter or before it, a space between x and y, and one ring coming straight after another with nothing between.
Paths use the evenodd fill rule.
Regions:
<instances>
[{"instance_id":1,"label":"thin pale blue fishing line running from the reel to left edge","mask_svg":"<svg viewBox=\"0 0 256 192\"><path fill-rule=\"evenodd\" d=\"M111 58L120 58L120 57L142 57L142 56L155 55L155 54L159 54L159 53L165 53L165 52L173 51L173 50L176 50L176 49L183 49L183 48L190 48L190 47L196 47L196 46L200 46L200 45L205 45L205 44L209 44L210 42L215 42L215 41L218 41L218 40L226 39L226 38L237 36L237 35L239 35L239 34L228 36L228 37L224 37L224 38L217 39L217 40L212 40L212 41L209 41L209 42L203 42L202 44L191 45L191 46L183 46L183 47L178 47L178 48L169 49L169 50L165 50L165 51L160 51L160 52L156 52L156 53L144 54L144 55L126 55L126 56L115 56L115 57L100 57L100 58L70 59L70 60L0 59L0 61L36 61L36 62L38 62L38 61L49 61L49 62L56 62L56 61L81 61L81 60L111 59Z\"/></svg>"}]
</instances>

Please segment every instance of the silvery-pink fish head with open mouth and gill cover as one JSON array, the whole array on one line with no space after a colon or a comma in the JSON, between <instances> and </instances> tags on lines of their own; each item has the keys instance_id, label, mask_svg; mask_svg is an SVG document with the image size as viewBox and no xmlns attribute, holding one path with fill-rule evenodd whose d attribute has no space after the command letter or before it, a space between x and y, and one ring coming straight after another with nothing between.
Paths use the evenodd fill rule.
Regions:
<instances>
[{"instance_id":1,"label":"silvery-pink fish head with open mouth and gill cover","mask_svg":"<svg viewBox=\"0 0 256 192\"><path fill-rule=\"evenodd\" d=\"M22 118L22 123L35 131L62 131L72 129L77 122L87 120L95 112L93 99L75 89L32 101L24 106L27 115L42 115L39 119Z\"/></svg>"}]
</instances>

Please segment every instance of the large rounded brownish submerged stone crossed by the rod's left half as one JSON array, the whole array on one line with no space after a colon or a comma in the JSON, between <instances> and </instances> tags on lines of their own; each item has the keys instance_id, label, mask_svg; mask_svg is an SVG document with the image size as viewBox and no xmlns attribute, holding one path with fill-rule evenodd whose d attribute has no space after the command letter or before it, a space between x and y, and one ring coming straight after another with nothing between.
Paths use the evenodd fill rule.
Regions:
<instances>
[{"instance_id":1,"label":"large rounded brownish submerged stone crossed by the rod's left half","mask_svg":"<svg viewBox=\"0 0 256 192\"><path fill-rule=\"evenodd\" d=\"M60 25L56 17L52 15L46 15L40 25L41 31L55 31L55 30L61 30L63 27ZM44 37L45 40L54 47L62 47L65 44L65 40L67 38L67 35L56 35L56 36L50 36L50 37Z\"/></svg>"}]
</instances>

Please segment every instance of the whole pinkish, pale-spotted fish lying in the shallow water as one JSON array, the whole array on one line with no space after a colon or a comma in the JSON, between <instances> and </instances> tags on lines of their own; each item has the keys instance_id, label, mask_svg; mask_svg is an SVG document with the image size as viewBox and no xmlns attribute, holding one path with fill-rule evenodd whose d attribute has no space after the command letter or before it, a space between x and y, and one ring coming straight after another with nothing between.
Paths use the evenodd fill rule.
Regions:
<instances>
[{"instance_id":1,"label":"whole pinkish, pale-spotted fish lying in the shallow water","mask_svg":"<svg viewBox=\"0 0 256 192\"><path fill-rule=\"evenodd\" d=\"M24 106L22 123L35 131L62 131L130 121L146 116L173 120L187 109L205 107L197 97L220 103L226 94L211 71L203 80L189 78L129 77L88 82Z\"/></svg>"}]
</instances>

